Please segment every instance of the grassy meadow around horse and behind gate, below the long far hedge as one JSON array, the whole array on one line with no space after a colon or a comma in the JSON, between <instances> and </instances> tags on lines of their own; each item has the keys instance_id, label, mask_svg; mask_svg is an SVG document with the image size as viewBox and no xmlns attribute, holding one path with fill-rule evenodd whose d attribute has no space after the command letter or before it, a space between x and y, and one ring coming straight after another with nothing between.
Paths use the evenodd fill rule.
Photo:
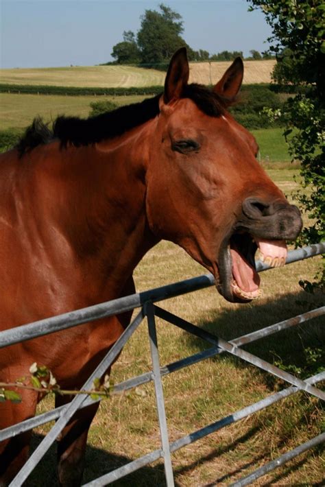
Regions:
<instances>
[{"instance_id":1,"label":"grassy meadow around horse and behind gate, below the long far hedge","mask_svg":"<svg viewBox=\"0 0 325 487\"><path fill-rule=\"evenodd\" d=\"M0 129L24 128L35 115L42 115L46 120L62 113L86 116L93 99L1 94ZM113 101L124 104L137 99L119 97ZM298 188L298 182L294 180L295 176L298 177L298 169L289 163L281 132L282 129L263 129L254 131L254 135L260 145L261 164L291 200L291 194ZM230 340L303 313L309 307L317 307L320 297L307 295L298 281L313 281L319 265L320 258L317 257L263 272L263 296L248 305L226 302L213 287L160 304L182 318ZM164 241L148 252L136 268L134 277L136 289L142 291L204 272L181 248ZM162 365L208 347L201 340L163 320L157 320L157 324ZM263 359L282 364L291 372L294 367L294 373L304 377L305 374L313 375L320 365L317 361L309 360L308 351L317 351L322 343L324 327L318 319L245 348ZM150 366L149 342L143 323L113 367L112 380L117 383L147 372ZM282 381L225 354L171 374L165 377L163 383L170 440L176 440L258 401L272 394L274 389L285 387ZM47 398L40 404L39 411L51 405L53 400ZM173 454L176 486L229 484L312 438L320 433L321 428L320 401L299 392ZM34 446L48 429L49 425L36 429ZM159 445L153 385L149 383L128 394L112 396L101 403L99 414L91 427L84 482ZM54 450L53 447L46 455L45 462L38 467L27 486L56 485ZM322 449L317 448L265 475L255 485L321 485L323 467ZM139 487L150 484L165 485L162 462L147 466L115 483L116 486Z\"/></svg>"}]
</instances>

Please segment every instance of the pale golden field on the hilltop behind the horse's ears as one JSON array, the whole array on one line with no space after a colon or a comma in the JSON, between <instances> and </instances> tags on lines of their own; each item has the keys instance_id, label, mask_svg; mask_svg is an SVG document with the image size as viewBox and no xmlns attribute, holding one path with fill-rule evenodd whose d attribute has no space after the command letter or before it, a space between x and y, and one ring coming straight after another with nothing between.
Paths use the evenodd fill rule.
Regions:
<instances>
[{"instance_id":1,"label":"pale golden field on the hilltop behind the horse's ears","mask_svg":"<svg viewBox=\"0 0 325 487\"><path fill-rule=\"evenodd\" d=\"M245 61L243 82L269 83L274 60ZM216 83L230 62L190 63L190 81ZM0 69L0 82L12 84L51 84L54 86L117 87L163 86L165 73L131 66L94 66L42 69Z\"/></svg>"}]
</instances>

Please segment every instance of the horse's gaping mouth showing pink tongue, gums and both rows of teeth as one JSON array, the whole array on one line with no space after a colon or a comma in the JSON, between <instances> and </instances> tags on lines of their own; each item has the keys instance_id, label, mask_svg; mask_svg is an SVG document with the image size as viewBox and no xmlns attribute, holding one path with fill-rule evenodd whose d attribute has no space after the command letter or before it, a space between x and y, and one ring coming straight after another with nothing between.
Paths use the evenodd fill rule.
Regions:
<instances>
[{"instance_id":1,"label":"horse's gaping mouth showing pink tongue, gums and both rows of teeth","mask_svg":"<svg viewBox=\"0 0 325 487\"><path fill-rule=\"evenodd\" d=\"M265 240L249 233L234 233L219 253L219 292L232 302L258 298L261 296L261 279L256 272L255 259L276 268L285 265L286 258L284 240Z\"/></svg>"}]
</instances>

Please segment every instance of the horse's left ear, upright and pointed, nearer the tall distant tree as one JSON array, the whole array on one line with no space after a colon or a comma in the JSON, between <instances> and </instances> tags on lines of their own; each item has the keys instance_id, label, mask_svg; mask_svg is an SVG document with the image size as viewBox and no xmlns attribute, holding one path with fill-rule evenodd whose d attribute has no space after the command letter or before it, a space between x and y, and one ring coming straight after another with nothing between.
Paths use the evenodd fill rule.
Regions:
<instances>
[{"instance_id":1,"label":"horse's left ear, upright and pointed, nearer the tall distant tree","mask_svg":"<svg viewBox=\"0 0 325 487\"><path fill-rule=\"evenodd\" d=\"M171 58L165 80L164 102L178 99L189 81L189 61L186 47L181 47Z\"/></svg>"}]
</instances>

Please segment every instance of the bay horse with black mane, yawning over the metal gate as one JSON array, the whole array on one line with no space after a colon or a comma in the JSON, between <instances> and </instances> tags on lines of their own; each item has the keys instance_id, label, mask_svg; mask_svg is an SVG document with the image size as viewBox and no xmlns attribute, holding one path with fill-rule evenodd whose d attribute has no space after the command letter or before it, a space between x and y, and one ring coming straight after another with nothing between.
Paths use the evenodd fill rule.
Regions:
<instances>
[{"instance_id":1,"label":"bay horse with black mane, yawning over the metal gate","mask_svg":"<svg viewBox=\"0 0 325 487\"><path fill-rule=\"evenodd\" d=\"M162 95L87 120L34 121L0 164L0 329L134 292L132 272L160 239L212 272L232 302L258 296L254 252L271 265L300 213L256 161L254 137L226 111L243 78L237 58L213 90L188 84L186 50L172 58ZM4 348L0 380L46 365L80 388L130 313ZM33 416L40 397L0 404L0 427ZM61 397L56 401L62 404ZM97 405L79 412L58 445L62 485L82 478ZM30 433L0 445L1 485L25 462Z\"/></svg>"}]
</instances>

